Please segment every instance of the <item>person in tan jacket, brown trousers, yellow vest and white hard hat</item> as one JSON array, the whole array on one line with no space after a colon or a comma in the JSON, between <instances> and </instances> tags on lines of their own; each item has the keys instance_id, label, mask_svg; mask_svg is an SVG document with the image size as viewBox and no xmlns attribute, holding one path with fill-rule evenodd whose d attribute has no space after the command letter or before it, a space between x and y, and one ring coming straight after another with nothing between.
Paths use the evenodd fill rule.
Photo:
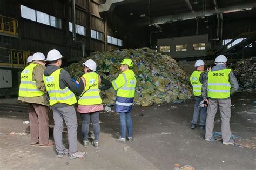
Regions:
<instances>
[{"instance_id":1,"label":"person in tan jacket, brown trousers, yellow vest and white hard hat","mask_svg":"<svg viewBox=\"0 0 256 170\"><path fill-rule=\"evenodd\" d=\"M46 88L43 81L45 70L45 56L36 52L32 56L33 62L21 73L18 100L28 103L30 120L31 146L39 144L40 147L54 145L49 141L49 118Z\"/></svg>"}]
</instances>

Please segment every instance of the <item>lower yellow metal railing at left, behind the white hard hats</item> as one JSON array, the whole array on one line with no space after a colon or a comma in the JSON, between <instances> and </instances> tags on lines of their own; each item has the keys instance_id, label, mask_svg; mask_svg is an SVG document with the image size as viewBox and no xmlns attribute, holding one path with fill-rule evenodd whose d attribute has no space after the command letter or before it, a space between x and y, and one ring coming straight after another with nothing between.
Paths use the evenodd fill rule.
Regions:
<instances>
[{"instance_id":1,"label":"lower yellow metal railing at left, behind the white hard hats","mask_svg":"<svg viewBox=\"0 0 256 170\"><path fill-rule=\"evenodd\" d=\"M27 65L26 59L32 54L31 51L0 47L0 66L25 67Z\"/></svg>"}]
</instances>

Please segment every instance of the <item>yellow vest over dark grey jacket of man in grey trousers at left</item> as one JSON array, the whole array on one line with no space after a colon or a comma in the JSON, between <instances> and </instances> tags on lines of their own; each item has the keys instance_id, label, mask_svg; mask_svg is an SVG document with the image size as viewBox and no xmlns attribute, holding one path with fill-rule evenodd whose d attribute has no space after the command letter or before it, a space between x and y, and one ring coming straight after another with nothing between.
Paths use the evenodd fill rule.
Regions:
<instances>
[{"instance_id":1,"label":"yellow vest over dark grey jacket of man in grey trousers at left","mask_svg":"<svg viewBox=\"0 0 256 170\"><path fill-rule=\"evenodd\" d=\"M62 69L54 71L50 76L43 76L46 90L49 94L50 106L57 103L64 103L67 105L73 105L77 102L75 94L69 90L68 87L60 89L59 87L59 75Z\"/></svg>"}]
</instances>

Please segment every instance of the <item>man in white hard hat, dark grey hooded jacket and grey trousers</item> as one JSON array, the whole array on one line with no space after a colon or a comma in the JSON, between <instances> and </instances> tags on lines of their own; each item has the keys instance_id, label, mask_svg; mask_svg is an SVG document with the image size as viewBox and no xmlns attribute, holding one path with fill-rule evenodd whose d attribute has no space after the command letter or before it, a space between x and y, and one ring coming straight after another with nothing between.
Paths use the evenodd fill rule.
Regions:
<instances>
[{"instance_id":1,"label":"man in white hard hat, dark grey hooded jacket and grey trousers","mask_svg":"<svg viewBox=\"0 0 256 170\"><path fill-rule=\"evenodd\" d=\"M50 64L44 71L44 83L49 94L49 103L53 111L54 130L53 136L56 143L57 157L62 158L69 154L69 159L85 157L85 152L77 150L77 116L73 104L77 103L75 94L76 83L70 74L60 68L62 55L58 50L51 50L47 54ZM68 128L69 150L62 142L63 119Z\"/></svg>"}]
</instances>

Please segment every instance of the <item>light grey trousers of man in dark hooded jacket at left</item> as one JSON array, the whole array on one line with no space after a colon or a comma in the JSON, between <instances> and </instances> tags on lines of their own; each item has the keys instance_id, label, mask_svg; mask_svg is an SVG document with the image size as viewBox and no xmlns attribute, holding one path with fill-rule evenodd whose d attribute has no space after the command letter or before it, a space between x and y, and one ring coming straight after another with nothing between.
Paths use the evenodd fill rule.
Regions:
<instances>
[{"instance_id":1,"label":"light grey trousers of man in dark hooded jacket at left","mask_svg":"<svg viewBox=\"0 0 256 170\"><path fill-rule=\"evenodd\" d=\"M77 152L77 114L74 106L63 108L52 107L54 130L53 136L57 152L65 151L62 142L63 119L68 128L69 154L72 155Z\"/></svg>"}]
</instances>

